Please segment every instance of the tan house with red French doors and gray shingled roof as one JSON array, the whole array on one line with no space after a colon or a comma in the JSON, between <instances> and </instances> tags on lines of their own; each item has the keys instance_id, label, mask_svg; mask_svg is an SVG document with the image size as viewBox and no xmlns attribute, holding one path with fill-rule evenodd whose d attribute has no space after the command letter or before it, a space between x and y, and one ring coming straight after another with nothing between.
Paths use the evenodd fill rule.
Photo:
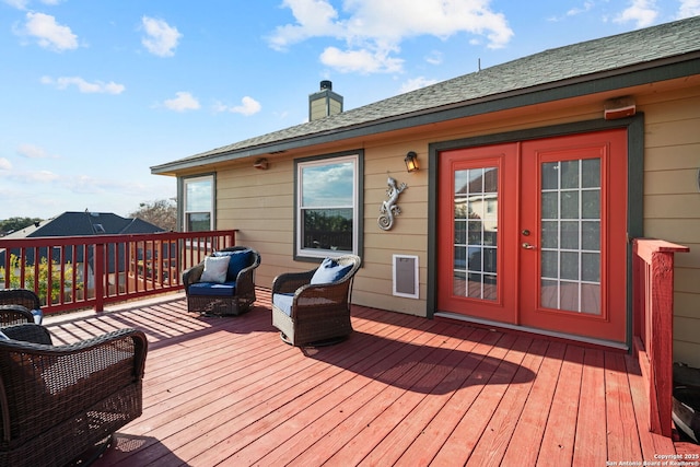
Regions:
<instances>
[{"instance_id":1,"label":"tan house with red French doors and gray shingled roof","mask_svg":"<svg viewBox=\"0 0 700 467\"><path fill-rule=\"evenodd\" d=\"M620 348L630 240L689 246L675 354L700 366L700 16L326 115L151 172L178 178L184 230L240 230L259 285L354 252L357 304ZM408 189L383 230L387 176Z\"/></svg>"}]
</instances>

